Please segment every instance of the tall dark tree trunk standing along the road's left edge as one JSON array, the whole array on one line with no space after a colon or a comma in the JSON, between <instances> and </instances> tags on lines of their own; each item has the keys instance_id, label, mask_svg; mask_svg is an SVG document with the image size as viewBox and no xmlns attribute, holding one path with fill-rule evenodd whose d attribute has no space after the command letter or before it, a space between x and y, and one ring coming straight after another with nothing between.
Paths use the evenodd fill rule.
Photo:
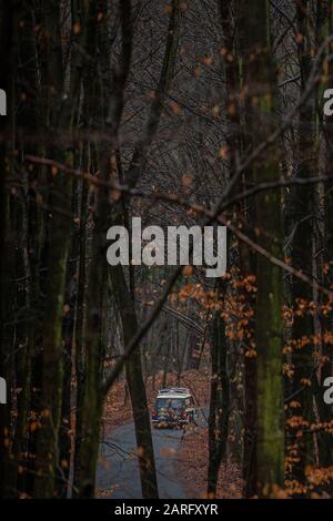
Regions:
<instances>
[{"instance_id":1,"label":"tall dark tree trunk standing along the road's left edge","mask_svg":"<svg viewBox=\"0 0 333 521\"><path fill-rule=\"evenodd\" d=\"M102 111L100 121L104 131L110 133L110 149L105 153L104 147L97 150L97 157L102 178L108 183L111 177L110 160L114 157L117 150L117 140L119 125L122 118L124 105L124 88L128 79L131 54L132 54L132 10L131 1L120 2L120 21L122 31L122 54L117 70L112 78L112 92L110 93L110 73L108 48L108 7L107 2L102 6L103 28L100 28L97 44L101 52L100 65L103 71L103 81L101 82L102 91L100 96L102 100ZM98 92L98 91L97 91ZM111 100L111 101L110 101ZM93 102L93 100L90 100ZM101 331L102 331L102 307L103 307L103 288L107 283L107 232L110 226L108 219L110 215L110 191L101 187L94 193L94 229L92 235L92 253L95 262L91 263L89 270L89 282L87 288L87 327L84 331L85 343L85 368L84 368L84 388L82 390L82 410L80 413L81 422L81 441L80 453L77 456L75 481L80 496L93 497L95 467L99 448L100 419L102 403L104 399L101 392ZM77 447L78 449L78 447Z\"/></svg>"}]
</instances>

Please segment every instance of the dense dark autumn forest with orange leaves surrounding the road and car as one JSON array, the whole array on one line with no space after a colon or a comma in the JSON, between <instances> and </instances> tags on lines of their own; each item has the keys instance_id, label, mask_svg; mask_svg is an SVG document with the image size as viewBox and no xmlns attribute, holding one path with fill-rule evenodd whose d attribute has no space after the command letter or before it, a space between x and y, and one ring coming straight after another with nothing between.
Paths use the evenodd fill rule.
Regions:
<instances>
[{"instance_id":1,"label":"dense dark autumn forest with orange leaves surrounding the road and car","mask_svg":"<svg viewBox=\"0 0 333 521\"><path fill-rule=\"evenodd\" d=\"M244 498L333 496L331 0L1 0L0 496L93 498L125 381L208 369ZM228 272L110 266L107 231L228 226ZM111 421L112 423L112 421ZM231 436L232 435L232 436Z\"/></svg>"}]
</instances>

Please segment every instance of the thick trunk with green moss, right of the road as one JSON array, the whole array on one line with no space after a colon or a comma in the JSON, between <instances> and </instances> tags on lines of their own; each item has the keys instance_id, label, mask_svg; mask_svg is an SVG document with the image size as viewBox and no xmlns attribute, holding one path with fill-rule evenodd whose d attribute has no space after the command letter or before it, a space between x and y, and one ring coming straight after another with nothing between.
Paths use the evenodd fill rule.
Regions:
<instances>
[{"instance_id":1,"label":"thick trunk with green moss, right of the road","mask_svg":"<svg viewBox=\"0 0 333 521\"><path fill-rule=\"evenodd\" d=\"M245 9L245 7L243 7ZM245 14L245 11L243 11ZM276 103L276 65L271 49L270 3L246 2L244 24L244 82L252 146L272 132ZM252 165L255 183L280 178L279 150L269 147ZM261 246L282 257L282 204L280 191L268 191L255 197L254 233ZM258 255L256 258L256 493L268 497L274 487L284 484L284 390L282 375L282 292L279 267Z\"/></svg>"}]
</instances>

